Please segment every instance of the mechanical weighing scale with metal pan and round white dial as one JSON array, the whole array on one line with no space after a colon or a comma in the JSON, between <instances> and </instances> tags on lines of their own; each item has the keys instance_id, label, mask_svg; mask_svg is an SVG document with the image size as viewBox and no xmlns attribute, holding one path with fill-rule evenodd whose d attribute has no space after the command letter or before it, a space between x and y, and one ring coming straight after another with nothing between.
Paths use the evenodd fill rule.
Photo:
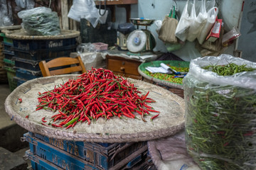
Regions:
<instances>
[{"instance_id":1,"label":"mechanical weighing scale with metal pan and round white dial","mask_svg":"<svg viewBox=\"0 0 256 170\"><path fill-rule=\"evenodd\" d=\"M153 52L156 46L156 40L154 35L147 30L147 26L151 26L154 20L146 18L130 18L130 21L137 26L137 30L129 33L127 38L127 48L131 53L137 53L137 55L142 55L142 53ZM139 26L145 26L145 29L139 29Z\"/></svg>"}]
</instances>

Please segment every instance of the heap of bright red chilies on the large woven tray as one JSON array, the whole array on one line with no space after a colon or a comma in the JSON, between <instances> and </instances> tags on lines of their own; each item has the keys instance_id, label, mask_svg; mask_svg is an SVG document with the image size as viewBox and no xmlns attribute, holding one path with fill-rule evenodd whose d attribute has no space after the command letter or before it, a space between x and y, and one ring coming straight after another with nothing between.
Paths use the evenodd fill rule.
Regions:
<instances>
[{"instance_id":1,"label":"heap of bright red chilies on the large woven tray","mask_svg":"<svg viewBox=\"0 0 256 170\"><path fill-rule=\"evenodd\" d=\"M149 112L159 113L146 104L156 102L147 97L149 91L140 95L142 92L127 79L102 68L92 68L78 76L78 79L69 79L53 90L38 94L39 105L36 111L42 108L58 111L48 123L53 127L68 129L78 122L87 121L90 125L91 121L100 117L106 120L114 116L137 118L137 114L146 121L144 115L150 115ZM158 115L151 117L151 120ZM45 118L42 121L46 125Z\"/></svg>"}]
</instances>

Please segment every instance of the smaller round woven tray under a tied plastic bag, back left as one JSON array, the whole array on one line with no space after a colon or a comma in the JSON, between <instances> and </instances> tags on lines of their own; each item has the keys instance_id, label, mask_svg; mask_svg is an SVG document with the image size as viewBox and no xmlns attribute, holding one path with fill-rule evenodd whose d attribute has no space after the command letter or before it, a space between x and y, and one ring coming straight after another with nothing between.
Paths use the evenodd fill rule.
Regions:
<instances>
[{"instance_id":1,"label":"smaller round woven tray under a tied plastic bag, back left","mask_svg":"<svg viewBox=\"0 0 256 170\"><path fill-rule=\"evenodd\" d=\"M60 30L60 35L26 35L23 29L2 30L6 38L14 40L59 40L66 38L76 38L80 35L78 30Z\"/></svg>"}]
</instances>

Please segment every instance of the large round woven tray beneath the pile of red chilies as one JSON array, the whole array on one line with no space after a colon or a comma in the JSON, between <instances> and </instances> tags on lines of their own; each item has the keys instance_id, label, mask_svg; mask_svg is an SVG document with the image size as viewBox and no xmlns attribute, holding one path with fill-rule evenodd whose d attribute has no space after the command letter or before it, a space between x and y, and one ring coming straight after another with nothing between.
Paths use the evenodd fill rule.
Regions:
<instances>
[{"instance_id":1,"label":"large round woven tray beneath the pile of red chilies","mask_svg":"<svg viewBox=\"0 0 256 170\"><path fill-rule=\"evenodd\" d=\"M176 134L184 128L185 102L183 98L154 84L144 81L129 79L142 93L149 92L149 98L154 98L156 103L150 103L157 111L161 111L159 117L150 121L152 115L146 116L146 123L139 119L110 120L99 118L96 123L77 123L74 128L68 130L51 128L41 125L41 118L50 117L55 113L45 110L35 111L38 105L38 91L53 89L55 85L63 84L68 79L76 79L78 75L63 75L42 77L26 81L18 86L5 101L6 113L16 121L18 125L30 132L39 133L48 137L61 140L75 140L85 142L139 142L154 140ZM48 91L47 90L47 91ZM22 98L22 103L18 102ZM26 115L29 115L26 118Z\"/></svg>"}]
</instances>

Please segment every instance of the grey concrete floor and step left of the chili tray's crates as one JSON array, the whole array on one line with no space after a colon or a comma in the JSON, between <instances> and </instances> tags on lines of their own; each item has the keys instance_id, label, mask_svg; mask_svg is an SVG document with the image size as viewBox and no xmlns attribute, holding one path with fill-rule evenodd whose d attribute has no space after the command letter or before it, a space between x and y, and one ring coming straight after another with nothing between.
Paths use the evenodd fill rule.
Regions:
<instances>
[{"instance_id":1,"label":"grey concrete floor and step left of the chili tray's crates","mask_svg":"<svg viewBox=\"0 0 256 170\"><path fill-rule=\"evenodd\" d=\"M0 91L0 169L27 169L29 162L23 160L23 155L29 149L28 142L21 142L27 130L11 120L5 111L4 102L11 94L9 84L0 84Z\"/></svg>"}]
</instances>

